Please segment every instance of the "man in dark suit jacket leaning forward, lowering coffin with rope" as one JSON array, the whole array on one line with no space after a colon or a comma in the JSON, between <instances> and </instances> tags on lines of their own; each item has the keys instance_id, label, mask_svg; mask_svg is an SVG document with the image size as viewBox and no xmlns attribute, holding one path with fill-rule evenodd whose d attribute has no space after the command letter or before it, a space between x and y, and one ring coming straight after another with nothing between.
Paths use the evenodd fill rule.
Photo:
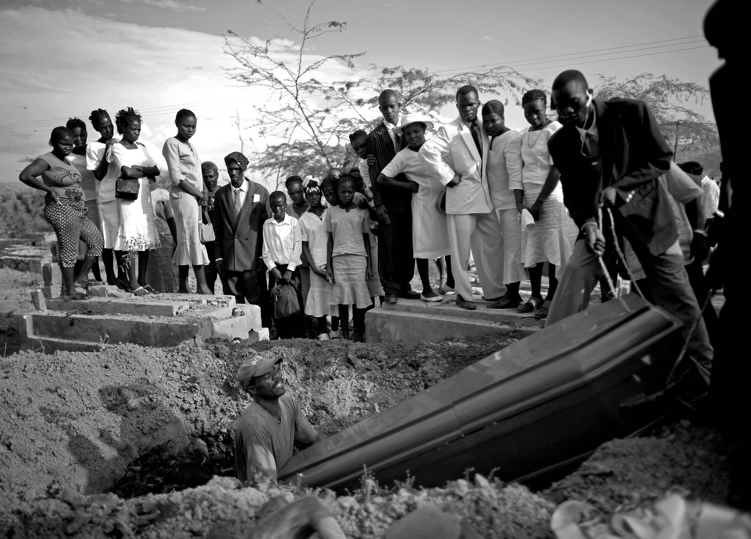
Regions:
<instances>
[{"instance_id":1,"label":"man in dark suit jacket leaning forward, lowering coffin with rope","mask_svg":"<svg viewBox=\"0 0 751 539\"><path fill-rule=\"evenodd\" d=\"M670 168L672 152L647 105L636 99L593 99L584 75L575 70L553 81L552 101L564 125L547 147L561 174L563 201L581 233L559 278L547 323L587 307L602 276L598 258L607 264L615 256L614 242L627 238L655 303L683 322L684 338L698 319L689 353L711 359L707 329L683 268L675 217L657 185Z\"/></svg>"}]
</instances>

